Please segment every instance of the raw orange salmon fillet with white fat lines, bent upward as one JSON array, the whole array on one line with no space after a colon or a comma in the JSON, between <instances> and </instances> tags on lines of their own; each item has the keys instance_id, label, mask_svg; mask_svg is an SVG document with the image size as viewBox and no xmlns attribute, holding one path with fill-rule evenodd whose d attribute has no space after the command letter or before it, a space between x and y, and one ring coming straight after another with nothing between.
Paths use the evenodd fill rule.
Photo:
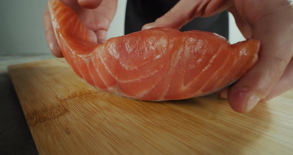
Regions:
<instances>
[{"instance_id":1,"label":"raw orange salmon fillet with white fat lines, bent upward","mask_svg":"<svg viewBox=\"0 0 293 155\"><path fill-rule=\"evenodd\" d=\"M48 0L61 51L90 85L127 98L163 101L213 93L256 63L260 42L236 44L211 32L151 28L91 42L75 12Z\"/></svg>"}]
</instances>

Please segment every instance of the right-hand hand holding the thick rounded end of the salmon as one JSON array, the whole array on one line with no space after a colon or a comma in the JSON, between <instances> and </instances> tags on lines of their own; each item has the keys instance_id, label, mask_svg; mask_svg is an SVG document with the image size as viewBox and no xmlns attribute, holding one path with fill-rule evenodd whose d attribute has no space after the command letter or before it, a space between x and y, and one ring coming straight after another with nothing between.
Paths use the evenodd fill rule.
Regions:
<instances>
[{"instance_id":1,"label":"right-hand hand holding the thick rounded end of the salmon","mask_svg":"<svg viewBox=\"0 0 293 155\"><path fill-rule=\"evenodd\" d=\"M293 88L293 6L290 0L180 0L170 11L143 29L180 29L195 17L228 9L246 39L261 41L255 66L233 85L218 92L231 108L248 112L259 101ZM217 25L215 25L217 26Z\"/></svg>"}]
</instances>

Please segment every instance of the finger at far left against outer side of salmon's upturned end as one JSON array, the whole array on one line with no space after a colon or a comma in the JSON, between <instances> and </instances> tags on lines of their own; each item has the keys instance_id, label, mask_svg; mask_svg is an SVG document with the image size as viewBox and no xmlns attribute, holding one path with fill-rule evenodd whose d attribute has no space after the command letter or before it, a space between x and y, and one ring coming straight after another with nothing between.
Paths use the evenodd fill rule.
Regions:
<instances>
[{"instance_id":1,"label":"finger at far left against outer side of salmon's upturned end","mask_svg":"<svg viewBox=\"0 0 293 155\"><path fill-rule=\"evenodd\" d=\"M51 15L50 15L48 6L46 7L46 10L44 12L43 22L45 26L46 39L47 39L47 44L49 49L51 50L54 56L58 58L63 57L60 51L60 47L58 45L55 33L54 33L54 29L53 29L53 25L51 21Z\"/></svg>"}]
</instances>

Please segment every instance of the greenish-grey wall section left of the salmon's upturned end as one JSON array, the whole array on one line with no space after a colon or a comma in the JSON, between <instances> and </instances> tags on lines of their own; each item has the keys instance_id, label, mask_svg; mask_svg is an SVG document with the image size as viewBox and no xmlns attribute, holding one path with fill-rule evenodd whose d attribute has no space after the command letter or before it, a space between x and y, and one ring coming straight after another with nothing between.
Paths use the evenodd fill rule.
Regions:
<instances>
[{"instance_id":1,"label":"greenish-grey wall section left of the salmon's upturned end","mask_svg":"<svg viewBox=\"0 0 293 155\"><path fill-rule=\"evenodd\" d=\"M50 54L42 18L46 2L0 1L0 56Z\"/></svg>"}]
</instances>

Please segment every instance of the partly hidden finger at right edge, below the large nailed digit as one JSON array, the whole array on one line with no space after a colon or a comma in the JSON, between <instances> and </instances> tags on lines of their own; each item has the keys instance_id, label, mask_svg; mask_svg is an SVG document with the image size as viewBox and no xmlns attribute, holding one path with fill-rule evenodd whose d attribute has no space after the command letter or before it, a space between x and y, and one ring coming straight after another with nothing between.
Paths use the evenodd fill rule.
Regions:
<instances>
[{"instance_id":1,"label":"partly hidden finger at right edge, below the large nailed digit","mask_svg":"<svg viewBox=\"0 0 293 155\"><path fill-rule=\"evenodd\" d=\"M278 83L273 87L272 91L263 100L270 100L278 95L293 88L293 59L287 66L284 75L279 79Z\"/></svg>"}]
</instances>

